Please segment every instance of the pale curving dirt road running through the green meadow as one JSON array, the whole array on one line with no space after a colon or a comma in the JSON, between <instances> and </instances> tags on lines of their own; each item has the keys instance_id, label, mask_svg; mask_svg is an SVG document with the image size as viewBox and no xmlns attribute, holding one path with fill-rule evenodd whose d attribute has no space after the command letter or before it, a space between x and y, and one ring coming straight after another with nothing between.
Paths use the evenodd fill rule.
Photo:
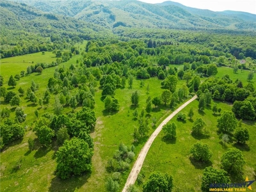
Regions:
<instances>
[{"instance_id":1,"label":"pale curving dirt road running through the green meadow","mask_svg":"<svg viewBox=\"0 0 256 192\"><path fill-rule=\"evenodd\" d=\"M188 100L187 102L182 104L182 106L180 106L178 109L173 111L173 113L171 115L169 115L165 120L163 120L163 122L157 127L157 129L152 133L150 138L148 138L147 143L145 143L144 147L141 149L138 159L136 160L136 162L134 163L134 165L132 167L131 173L125 183L125 186L124 186L124 189L122 192L125 192L126 188L129 185L135 183L135 181L138 177L138 174L140 173L140 170L141 170L142 164L145 160L145 157L147 156L148 150L149 150L151 144L153 143L153 141L155 140L156 136L162 130L163 125L167 124L173 118L173 116L175 116L177 113L179 113L183 108L185 108L189 103L191 103L196 98L197 98L197 96L195 95L190 100Z\"/></svg>"}]
</instances>

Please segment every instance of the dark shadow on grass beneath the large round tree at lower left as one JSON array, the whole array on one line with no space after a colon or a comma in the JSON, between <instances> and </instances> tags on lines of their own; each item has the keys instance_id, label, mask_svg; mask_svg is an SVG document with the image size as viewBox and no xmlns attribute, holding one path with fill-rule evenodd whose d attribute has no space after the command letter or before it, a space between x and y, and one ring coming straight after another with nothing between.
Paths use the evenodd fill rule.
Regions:
<instances>
[{"instance_id":1,"label":"dark shadow on grass beneath the large round tree at lower left","mask_svg":"<svg viewBox=\"0 0 256 192\"><path fill-rule=\"evenodd\" d=\"M71 177L70 179L61 180L58 177L54 177L51 180L51 186L49 188L50 192L62 192L62 191L76 191L80 189L88 179L90 178L91 173L86 173L79 177Z\"/></svg>"}]
</instances>

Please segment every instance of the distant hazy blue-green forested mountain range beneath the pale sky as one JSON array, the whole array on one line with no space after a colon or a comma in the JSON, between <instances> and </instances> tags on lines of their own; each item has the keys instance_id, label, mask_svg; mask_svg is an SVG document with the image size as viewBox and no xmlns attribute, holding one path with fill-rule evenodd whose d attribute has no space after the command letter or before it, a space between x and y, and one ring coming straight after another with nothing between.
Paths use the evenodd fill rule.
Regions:
<instances>
[{"instance_id":1,"label":"distant hazy blue-green forested mountain range beneath the pale sky","mask_svg":"<svg viewBox=\"0 0 256 192\"><path fill-rule=\"evenodd\" d=\"M193 30L256 29L256 15L243 12L212 12L189 8L172 1L161 4L140 1L19 1L43 12L74 17L108 29L118 26Z\"/></svg>"}]
</instances>

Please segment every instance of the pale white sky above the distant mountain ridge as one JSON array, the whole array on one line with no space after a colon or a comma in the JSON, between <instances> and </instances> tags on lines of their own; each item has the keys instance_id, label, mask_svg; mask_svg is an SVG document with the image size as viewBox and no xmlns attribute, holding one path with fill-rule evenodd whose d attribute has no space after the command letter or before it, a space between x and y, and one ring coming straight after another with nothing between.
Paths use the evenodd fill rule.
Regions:
<instances>
[{"instance_id":1,"label":"pale white sky above the distant mountain ridge","mask_svg":"<svg viewBox=\"0 0 256 192\"><path fill-rule=\"evenodd\" d=\"M162 3L164 0L139 0L146 3ZM165 0L167 1L167 0ZM173 0L186 6L221 12L225 10L256 14L256 0Z\"/></svg>"}]
</instances>

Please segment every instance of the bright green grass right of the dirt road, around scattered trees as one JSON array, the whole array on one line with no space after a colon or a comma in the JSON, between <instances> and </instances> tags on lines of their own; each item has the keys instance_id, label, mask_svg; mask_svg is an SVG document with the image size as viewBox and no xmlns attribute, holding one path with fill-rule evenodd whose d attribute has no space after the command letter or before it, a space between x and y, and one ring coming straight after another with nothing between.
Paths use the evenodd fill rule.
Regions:
<instances>
[{"instance_id":1,"label":"bright green grass right of the dirt road, around scattered trees","mask_svg":"<svg viewBox=\"0 0 256 192\"><path fill-rule=\"evenodd\" d=\"M230 111L232 108L232 106L223 102L218 102L218 106L221 107L222 111ZM187 119L186 122L179 122L176 118L173 118L171 122L175 122L178 127L177 140L166 141L163 139L163 132L160 132L152 144L141 170L141 172L145 173L146 179L154 171L166 172L173 175L174 191L200 191L203 169L206 166L220 168L222 154L224 154L227 148L231 147L237 147L242 150L246 159L244 178L248 176L253 179L253 168L255 168L255 159L253 157L255 157L256 152L255 122L243 123L243 127L248 128L250 131L248 145L239 146L233 143L227 143L225 147L216 133L218 115L213 115L211 109L205 109L204 113L198 113L198 100L189 104L182 112L188 114L190 108L194 109L195 115L193 116L193 120L197 117L202 117L205 121L209 131L209 138L194 138L191 136L193 120ZM189 158L191 146L199 140L207 143L211 148L213 152L211 163L200 164Z\"/></svg>"}]
</instances>

